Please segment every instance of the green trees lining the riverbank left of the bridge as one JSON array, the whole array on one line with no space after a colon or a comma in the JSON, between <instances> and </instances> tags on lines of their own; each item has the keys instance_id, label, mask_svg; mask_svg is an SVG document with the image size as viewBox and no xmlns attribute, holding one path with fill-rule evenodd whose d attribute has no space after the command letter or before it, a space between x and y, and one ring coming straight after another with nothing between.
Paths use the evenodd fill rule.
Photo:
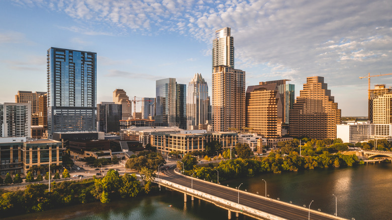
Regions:
<instances>
[{"instance_id":1,"label":"green trees lining the riverbank left of the bridge","mask_svg":"<svg viewBox=\"0 0 392 220\"><path fill-rule=\"evenodd\" d=\"M109 202L116 198L134 197L143 190L135 174L120 176L113 169L103 178L82 181L52 182L48 192L46 184L30 184L25 190L5 192L0 195L0 216L39 212L67 205L87 202Z\"/></svg>"}]
</instances>

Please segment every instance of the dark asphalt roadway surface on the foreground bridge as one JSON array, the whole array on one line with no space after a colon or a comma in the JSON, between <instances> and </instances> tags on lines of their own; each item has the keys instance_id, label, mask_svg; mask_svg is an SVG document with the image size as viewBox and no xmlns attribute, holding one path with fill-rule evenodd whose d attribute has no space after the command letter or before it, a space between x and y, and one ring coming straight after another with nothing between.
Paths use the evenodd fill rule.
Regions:
<instances>
[{"instance_id":1,"label":"dark asphalt roadway surface on the foreground bridge","mask_svg":"<svg viewBox=\"0 0 392 220\"><path fill-rule=\"evenodd\" d=\"M162 179L167 181L183 185L185 187L191 188L191 179L183 177L182 175L178 175L174 172L173 169L169 169L165 171L165 176L160 176ZM237 190L228 190L225 187L221 187L215 184L209 184L204 181L193 179L193 189L202 191L204 193L211 194L213 196L217 196L232 202L238 202L238 191ZM258 209L282 218L286 219L299 219L306 220L308 219L309 212L303 209L297 209L291 205L282 204L280 202L275 202L270 199L260 198L258 196L252 196L246 193L243 193L242 190L239 191L239 201L240 204ZM325 219L335 219L333 217L324 216L321 214L311 212L311 219L317 220L325 220Z\"/></svg>"}]
</instances>

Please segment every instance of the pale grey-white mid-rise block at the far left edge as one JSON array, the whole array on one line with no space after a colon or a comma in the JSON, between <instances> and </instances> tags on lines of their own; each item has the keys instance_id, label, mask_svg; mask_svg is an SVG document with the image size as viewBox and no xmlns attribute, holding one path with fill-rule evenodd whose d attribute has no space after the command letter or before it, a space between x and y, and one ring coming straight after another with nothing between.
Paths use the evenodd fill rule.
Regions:
<instances>
[{"instance_id":1,"label":"pale grey-white mid-rise block at the far left edge","mask_svg":"<svg viewBox=\"0 0 392 220\"><path fill-rule=\"evenodd\" d=\"M31 137L31 103L0 104L0 137Z\"/></svg>"}]
</instances>

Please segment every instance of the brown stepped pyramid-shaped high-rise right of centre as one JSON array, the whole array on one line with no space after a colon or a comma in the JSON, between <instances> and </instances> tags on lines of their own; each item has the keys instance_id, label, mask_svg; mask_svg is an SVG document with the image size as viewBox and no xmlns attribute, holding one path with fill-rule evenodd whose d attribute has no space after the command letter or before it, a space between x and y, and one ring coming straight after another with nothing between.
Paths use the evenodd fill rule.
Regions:
<instances>
[{"instance_id":1,"label":"brown stepped pyramid-shaped high-rise right of centre","mask_svg":"<svg viewBox=\"0 0 392 220\"><path fill-rule=\"evenodd\" d=\"M327 89L324 77L308 77L304 89L290 109L290 136L313 139L335 139L341 110Z\"/></svg>"}]
</instances>

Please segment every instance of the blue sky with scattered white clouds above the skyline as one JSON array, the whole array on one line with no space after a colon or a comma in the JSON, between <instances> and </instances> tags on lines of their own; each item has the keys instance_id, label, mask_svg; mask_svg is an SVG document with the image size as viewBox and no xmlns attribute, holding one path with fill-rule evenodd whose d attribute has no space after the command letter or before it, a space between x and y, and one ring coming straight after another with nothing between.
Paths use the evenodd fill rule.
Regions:
<instances>
[{"instance_id":1,"label":"blue sky with scattered white clouds above the skyline","mask_svg":"<svg viewBox=\"0 0 392 220\"><path fill-rule=\"evenodd\" d=\"M97 54L97 103L116 88L155 97L155 80L212 79L215 30L231 28L246 86L323 76L342 116L367 116L367 79L392 73L392 1L3 0L0 103L46 91L50 47ZM371 78L392 86L392 76ZM139 106L138 106L139 108Z\"/></svg>"}]
</instances>

